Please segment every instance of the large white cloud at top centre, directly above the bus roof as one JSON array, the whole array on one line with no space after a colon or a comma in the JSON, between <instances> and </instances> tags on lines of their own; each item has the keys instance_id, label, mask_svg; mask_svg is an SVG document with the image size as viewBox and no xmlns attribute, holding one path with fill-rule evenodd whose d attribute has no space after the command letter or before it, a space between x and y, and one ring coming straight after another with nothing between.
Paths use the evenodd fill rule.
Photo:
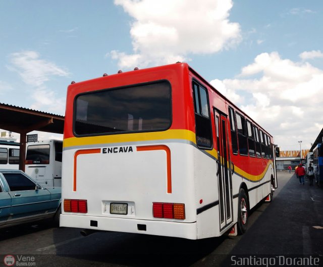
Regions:
<instances>
[{"instance_id":1,"label":"large white cloud at top centre, directly above the bus roof","mask_svg":"<svg viewBox=\"0 0 323 267\"><path fill-rule=\"evenodd\" d=\"M240 26L229 21L231 0L115 0L134 18L134 53L112 51L122 68L189 61L190 54L211 54L234 47Z\"/></svg>"}]
</instances>

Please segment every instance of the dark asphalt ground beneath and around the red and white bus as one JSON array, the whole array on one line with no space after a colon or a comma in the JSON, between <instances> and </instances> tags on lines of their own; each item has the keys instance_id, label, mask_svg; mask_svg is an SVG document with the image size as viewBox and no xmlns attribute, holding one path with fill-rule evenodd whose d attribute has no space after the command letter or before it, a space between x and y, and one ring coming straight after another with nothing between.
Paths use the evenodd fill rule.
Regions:
<instances>
[{"instance_id":1,"label":"dark asphalt ground beneath and around the red and white bus","mask_svg":"<svg viewBox=\"0 0 323 267\"><path fill-rule=\"evenodd\" d=\"M185 240L94 233L41 224L0 230L0 254L34 256L35 266L227 266L232 255L312 256L323 263L323 190L279 172L272 203L256 206L243 236ZM32 264L29 264L32 265Z\"/></svg>"}]
</instances>

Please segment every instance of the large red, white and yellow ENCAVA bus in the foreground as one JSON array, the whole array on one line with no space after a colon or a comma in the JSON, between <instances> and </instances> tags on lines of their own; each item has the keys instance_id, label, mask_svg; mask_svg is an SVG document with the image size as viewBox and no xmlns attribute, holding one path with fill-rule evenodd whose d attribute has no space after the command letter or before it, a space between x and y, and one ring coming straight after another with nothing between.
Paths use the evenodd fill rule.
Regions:
<instances>
[{"instance_id":1,"label":"large red, white and yellow ENCAVA bus in the foreground","mask_svg":"<svg viewBox=\"0 0 323 267\"><path fill-rule=\"evenodd\" d=\"M277 188L273 144L186 63L72 83L60 224L187 239L244 233L249 210Z\"/></svg>"}]
</instances>

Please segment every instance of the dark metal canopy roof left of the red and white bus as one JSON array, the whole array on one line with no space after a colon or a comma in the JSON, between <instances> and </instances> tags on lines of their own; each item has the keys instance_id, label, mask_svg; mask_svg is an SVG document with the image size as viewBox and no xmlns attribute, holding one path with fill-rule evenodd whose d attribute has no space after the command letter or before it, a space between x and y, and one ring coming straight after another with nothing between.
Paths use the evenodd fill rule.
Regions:
<instances>
[{"instance_id":1,"label":"dark metal canopy roof left of the red and white bus","mask_svg":"<svg viewBox=\"0 0 323 267\"><path fill-rule=\"evenodd\" d=\"M39 130L63 134L64 116L0 103L0 128L18 133Z\"/></svg>"}]
</instances>

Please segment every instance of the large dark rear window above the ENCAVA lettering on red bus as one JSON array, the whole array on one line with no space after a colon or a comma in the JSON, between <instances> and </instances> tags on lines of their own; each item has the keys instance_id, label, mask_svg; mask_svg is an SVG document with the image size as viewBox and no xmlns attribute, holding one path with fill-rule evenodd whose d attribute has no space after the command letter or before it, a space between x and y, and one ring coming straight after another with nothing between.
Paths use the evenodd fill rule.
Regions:
<instances>
[{"instance_id":1,"label":"large dark rear window above the ENCAVA lettering on red bus","mask_svg":"<svg viewBox=\"0 0 323 267\"><path fill-rule=\"evenodd\" d=\"M166 130L171 126L171 85L160 81L79 95L76 135Z\"/></svg>"}]
</instances>

